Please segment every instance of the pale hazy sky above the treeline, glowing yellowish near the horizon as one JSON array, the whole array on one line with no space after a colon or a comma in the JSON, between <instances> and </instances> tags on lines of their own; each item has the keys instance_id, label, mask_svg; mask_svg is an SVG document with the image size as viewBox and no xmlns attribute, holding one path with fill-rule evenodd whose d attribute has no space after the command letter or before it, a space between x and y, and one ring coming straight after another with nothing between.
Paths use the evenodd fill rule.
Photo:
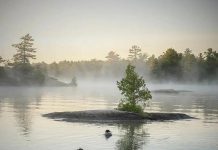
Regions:
<instances>
[{"instance_id":1,"label":"pale hazy sky above the treeline, glowing yellowish near the horizon","mask_svg":"<svg viewBox=\"0 0 218 150\"><path fill-rule=\"evenodd\" d=\"M27 33L45 62L127 57L134 44L196 54L218 50L218 0L0 0L0 55L12 58Z\"/></svg>"}]
</instances>

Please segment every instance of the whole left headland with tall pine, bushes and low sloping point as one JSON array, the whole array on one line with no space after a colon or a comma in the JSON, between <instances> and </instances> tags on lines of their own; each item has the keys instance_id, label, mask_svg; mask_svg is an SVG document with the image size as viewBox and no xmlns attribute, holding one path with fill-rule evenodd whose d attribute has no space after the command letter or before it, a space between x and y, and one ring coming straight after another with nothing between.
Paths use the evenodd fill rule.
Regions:
<instances>
[{"instance_id":1,"label":"whole left headland with tall pine, bushes and low sloping point","mask_svg":"<svg viewBox=\"0 0 218 150\"><path fill-rule=\"evenodd\" d=\"M29 34L21 37L21 42L13 44L16 53L12 61L0 56L0 86L77 86L76 78L71 82L58 81L47 74L47 68L42 64L31 64L36 59L36 49L33 48L33 38Z\"/></svg>"}]
</instances>

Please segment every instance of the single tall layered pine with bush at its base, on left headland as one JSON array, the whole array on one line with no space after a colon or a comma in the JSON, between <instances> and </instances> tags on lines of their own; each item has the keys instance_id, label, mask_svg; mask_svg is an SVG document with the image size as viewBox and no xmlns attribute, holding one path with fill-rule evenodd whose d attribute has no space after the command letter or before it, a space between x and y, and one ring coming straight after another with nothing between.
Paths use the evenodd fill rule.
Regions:
<instances>
[{"instance_id":1,"label":"single tall layered pine with bush at its base, on left headland","mask_svg":"<svg viewBox=\"0 0 218 150\"><path fill-rule=\"evenodd\" d=\"M45 80L45 72L40 64L30 64L30 59L36 59L36 51L33 48L33 38L29 34L21 37L21 42L13 44L17 53L13 56L13 79L18 85L42 85Z\"/></svg>"}]
</instances>

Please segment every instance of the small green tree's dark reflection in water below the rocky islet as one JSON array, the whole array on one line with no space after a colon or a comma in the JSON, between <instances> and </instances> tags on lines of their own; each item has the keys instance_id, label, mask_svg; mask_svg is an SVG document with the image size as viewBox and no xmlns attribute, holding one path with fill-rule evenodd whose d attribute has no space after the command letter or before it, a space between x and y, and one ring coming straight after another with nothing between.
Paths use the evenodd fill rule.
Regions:
<instances>
[{"instance_id":1,"label":"small green tree's dark reflection in water below the rocky islet","mask_svg":"<svg viewBox=\"0 0 218 150\"><path fill-rule=\"evenodd\" d=\"M117 150L139 150L146 145L149 134L142 123L120 124L118 128L123 135L116 142Z\"/></svg>"}]
</instances>

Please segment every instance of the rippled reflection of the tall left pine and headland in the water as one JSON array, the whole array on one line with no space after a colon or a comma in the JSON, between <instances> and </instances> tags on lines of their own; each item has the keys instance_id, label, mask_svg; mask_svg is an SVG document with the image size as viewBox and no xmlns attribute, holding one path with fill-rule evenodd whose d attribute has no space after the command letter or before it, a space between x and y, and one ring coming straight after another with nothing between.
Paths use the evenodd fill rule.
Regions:
<instances>
[{"instance_id":1,"label":"rippled reflection of the tall left pine and headland in the water","mask_svg":"<svg viewBox=\"0 0 218 150\"><path fill-rule=\"evenodd\" d=\"M11 94L13 92L13 94ZM40 104L39 88L4 88L1 89L1 100L12 108L14 118L22 135L29 135L33 120L33 112Z\"/></svg>"}]
</instances>

